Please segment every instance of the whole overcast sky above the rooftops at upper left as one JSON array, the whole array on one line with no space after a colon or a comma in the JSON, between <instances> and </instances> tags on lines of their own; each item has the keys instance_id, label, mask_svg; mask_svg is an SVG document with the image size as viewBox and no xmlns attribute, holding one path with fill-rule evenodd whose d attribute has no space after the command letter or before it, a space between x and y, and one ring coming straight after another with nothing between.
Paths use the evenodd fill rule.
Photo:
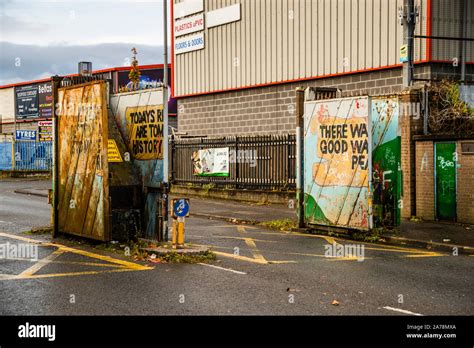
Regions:
<instances>
[{"instance_id":1,"label":"whole overcast sky above the rooftops at upper left","mask_svg":"<svg viewBox=\"0 0 474 348\"><path fill-rule=\"evenodd\" d=\"M163 62L162 0L0 0L0 85Z\"/></svg>"}]
</instances>

